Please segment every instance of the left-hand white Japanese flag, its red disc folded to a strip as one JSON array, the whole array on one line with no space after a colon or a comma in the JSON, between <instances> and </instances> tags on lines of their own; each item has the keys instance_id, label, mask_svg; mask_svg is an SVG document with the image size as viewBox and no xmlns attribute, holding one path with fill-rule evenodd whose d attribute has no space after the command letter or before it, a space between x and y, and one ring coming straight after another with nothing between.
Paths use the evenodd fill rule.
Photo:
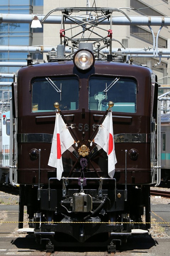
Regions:
<instances>
[{"instance_id":1,"label":"left-hand white Japanese flag, its red disc folded to a strip","mask_svg":"<svg viewBox=\"0 0 170 256\"><path fill-rule=\"evenodd\" d=\"M56 122L48 165L57 168L58 180L61 180L63 172L61 155L73 144L74 139L71 136L66 124L64 123L61 115L59 113L56 113Z\"/></svg>"}]
</instances>

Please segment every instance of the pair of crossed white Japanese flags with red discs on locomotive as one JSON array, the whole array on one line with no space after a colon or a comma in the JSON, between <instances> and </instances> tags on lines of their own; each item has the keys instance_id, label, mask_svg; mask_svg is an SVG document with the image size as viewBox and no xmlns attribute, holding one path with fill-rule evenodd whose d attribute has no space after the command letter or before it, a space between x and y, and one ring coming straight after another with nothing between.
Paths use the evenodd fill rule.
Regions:
<instances>
[{"instance_id":1,"label":"pair of crossed white Japanese flags with red discs on locomotive","mask_svg":"<svg viewBox=\"0 0 170 256\"><path fill-rule=\"evenodd\" d=\"M108 156L108 175L113 178L115 172L115 164L117 163L114 138L113 138L113 122L112 112L109 111L100 125L98 132L93 139L93 142L98 145L98 149L103 148ZM75 140L64 123L60 113L56 113L56 121L54 134L51 145L51 153L48 165L57 168L57 179L61 180L63 172L62 154L69 149Z\"/></svg>"}]
</instances>

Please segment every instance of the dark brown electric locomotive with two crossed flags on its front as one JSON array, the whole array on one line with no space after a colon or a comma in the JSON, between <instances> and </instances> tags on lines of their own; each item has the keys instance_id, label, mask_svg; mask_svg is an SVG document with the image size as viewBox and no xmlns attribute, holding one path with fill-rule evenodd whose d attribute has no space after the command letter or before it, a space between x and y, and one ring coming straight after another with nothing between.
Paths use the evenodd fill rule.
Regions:
<instances>
[{"instance_id":1,"label":"dark brown electric locomotive with two crossed flags on its front","mask_svg":"<svg viewBox=\"0 0 170 256\"><path fill-rule=\"evenodd\" d=\"M150 222L158 84L151 69L126 62L120 49L104 57L91 42L78 43L68 58L62 44L47 63L28 57L12 84L10 177L20 186L19 228L27 206L29 229L47 250L115 251L117 240L141 228L144 208ZM104 130L109 117L113 134Z\"/></svg>"}]
</instances>

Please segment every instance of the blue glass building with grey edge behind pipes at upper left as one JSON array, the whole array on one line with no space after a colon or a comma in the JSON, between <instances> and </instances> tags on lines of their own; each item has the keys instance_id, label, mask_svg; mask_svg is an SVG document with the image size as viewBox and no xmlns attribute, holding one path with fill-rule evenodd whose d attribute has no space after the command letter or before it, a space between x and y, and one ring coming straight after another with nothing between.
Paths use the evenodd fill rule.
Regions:
<instances>
[{"instance_id":1,"label":"blue glass building with grey edge behind pipes at upper left","mask_svg":"<svg viewBox=\"0 0 170 256\"><path fill-rule=\"evenodd\" d=\"M2 14L32 14L43 12L43 0L1 0ZM29 23L1 23L1 46L32 46L43 44L43 27L31 28ZM1 52L1 62L23 62L27 58L24 52ZM34 57L35 58L35 57ZM42 57L41 57L42 59ZM0 73L14 73L18 68L12 66L0 67ZM1 78L1 81L12 81L11 78Z\"/></svg>"}]
</instances>

